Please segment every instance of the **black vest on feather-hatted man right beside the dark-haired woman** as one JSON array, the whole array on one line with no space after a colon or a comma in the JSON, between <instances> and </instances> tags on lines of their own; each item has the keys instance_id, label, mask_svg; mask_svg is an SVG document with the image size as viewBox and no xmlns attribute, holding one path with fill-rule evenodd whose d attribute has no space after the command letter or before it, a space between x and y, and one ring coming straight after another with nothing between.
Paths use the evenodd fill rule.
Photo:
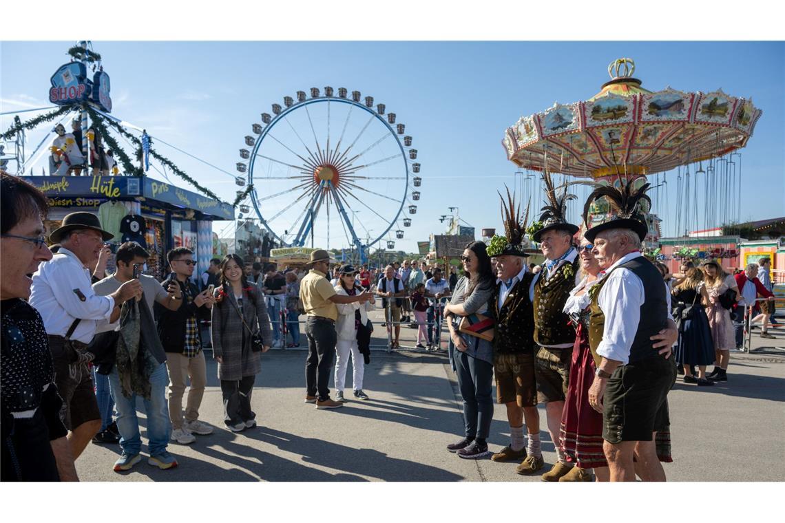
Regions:
<instances>
[{"instance_id":1,"label":"black vest on feather-hatted man right beside the dark-haired woman","mask_svg":"<svg viewBox=\"0 0 785 523\"><path fill-rule=\"evenodd\" d=\"M523 281L518 281L507 294L498 308L498 294L502 284L496 285L491 298L491 311L496 318L494 347L497 354L532 354L535 340L534 307L529 300L529 286L534 274L524 274Z\"/></svg>"}]
</instances>

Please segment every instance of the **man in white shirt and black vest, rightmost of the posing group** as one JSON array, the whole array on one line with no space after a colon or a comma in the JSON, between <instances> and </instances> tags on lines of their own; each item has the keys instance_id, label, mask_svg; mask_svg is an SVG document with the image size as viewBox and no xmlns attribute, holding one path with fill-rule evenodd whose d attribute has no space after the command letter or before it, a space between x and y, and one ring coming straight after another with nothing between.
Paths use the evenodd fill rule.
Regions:
<instances>
[{"instance_id":1,"label":"man in white shirt and black vest, rightmost of the posing group","mask_svg":"<svg viewBox=\"0 0 785 523\"><path fill-rule=\"evenodd\" d=\"M590 344L602 359L589 403L603 413L611 481L635 481L636 473L644 481L665 481L655 434L670 424L666 397L676 368L667 358L678 334L662 275L641 255L638 232L607 228L592 233L586 231L586 239L593 242L606 275L591 305Z\"/></svg>"}]
</instances>

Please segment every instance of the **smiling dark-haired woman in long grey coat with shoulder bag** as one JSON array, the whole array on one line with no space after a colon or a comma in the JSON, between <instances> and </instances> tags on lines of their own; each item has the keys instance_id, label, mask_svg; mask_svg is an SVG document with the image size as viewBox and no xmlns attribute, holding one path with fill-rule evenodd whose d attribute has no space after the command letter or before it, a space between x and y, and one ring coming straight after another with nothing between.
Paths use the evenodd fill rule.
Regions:
<instances>
[{"instance_id":1,"label":"smiling dark-haired woman in long grey coat with shoulder bag","mask_svg":"<svg viewBox=\"0 0 785 523\"><path fill-rule=\"evenodd\" d=\"M250 396L261 361L252 339L260 334L264 343L261 352L267 352L272 345L272 332L265 296L247 281L242 258L236 254L224 258L220 281L221 286L214 291L213 357L218 362L224 423L228 430L239 432L256 426Z\"/></svg>"}]
</instances>

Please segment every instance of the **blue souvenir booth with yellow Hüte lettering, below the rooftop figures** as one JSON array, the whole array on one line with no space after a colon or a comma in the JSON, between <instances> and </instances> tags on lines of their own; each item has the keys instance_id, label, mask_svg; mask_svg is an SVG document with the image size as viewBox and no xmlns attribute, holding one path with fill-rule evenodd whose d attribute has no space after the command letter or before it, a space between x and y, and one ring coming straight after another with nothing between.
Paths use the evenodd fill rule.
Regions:
<instances>
[{"instance_id":1,"label":"blue souvenir booth with yellow H\u00fcte lettering, below the rooftop figures","mask_svg":"<svg viewBox=\"0 0 785 523\"><path fill-rule=\"evenodd\" d=\"M214 257L214 220L234 220L227 203L147 176L22 176L49 198L46 235L70 212L94 212L110 243L138 242L151 254L146 274L166 277L166 252L188 247L202 274ZM110 267L111 269L111 267Z\"/></svg>"}]
</instances>

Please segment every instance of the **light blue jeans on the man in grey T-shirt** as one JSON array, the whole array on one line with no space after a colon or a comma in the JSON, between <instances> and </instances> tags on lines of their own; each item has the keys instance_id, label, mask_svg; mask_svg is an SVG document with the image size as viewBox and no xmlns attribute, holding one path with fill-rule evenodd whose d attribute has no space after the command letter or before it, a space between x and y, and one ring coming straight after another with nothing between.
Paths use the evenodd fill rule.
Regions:
<instances>
[{"instance_id":1,"label":"light blue jeans on the man in grey T-shirt","mask_svg":"<svg viewBox=\"0 0 785 523\"><path fill-rule=\"evenodd\" d=\"M166 364L162 363L150 376L150 399L144 401L144 412L148 422L148 451L150 456L157 456L166 450L172 435L172 422L169 419L169 404L166 401L166 386L169 385L169 374ZM139 434L137 419L137 395L131 398L122 395L117 367L109 375L109 387L117 405L117 428L120 431L120 448L122 452L138 454L142 441Z\"/></svg>"}]
</instances>

